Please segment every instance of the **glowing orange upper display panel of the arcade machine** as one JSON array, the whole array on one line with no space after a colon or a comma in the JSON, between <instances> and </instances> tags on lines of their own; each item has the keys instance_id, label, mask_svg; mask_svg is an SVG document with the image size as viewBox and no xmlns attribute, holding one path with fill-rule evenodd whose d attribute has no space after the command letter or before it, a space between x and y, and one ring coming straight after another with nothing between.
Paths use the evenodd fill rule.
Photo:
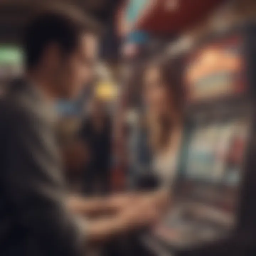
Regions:
<instances>
[{"instance_id":1,"label":"glowing orange upper display panel of the arcade machine","mask_svg":"<svg viewBox=\"0 0 256 256\"><path fill-rule=\"evenodd\" d=\"M190 56L185 84L189 102L245 91L242 40L230 38L202 47Z\"/></svg>"}]
</instances>

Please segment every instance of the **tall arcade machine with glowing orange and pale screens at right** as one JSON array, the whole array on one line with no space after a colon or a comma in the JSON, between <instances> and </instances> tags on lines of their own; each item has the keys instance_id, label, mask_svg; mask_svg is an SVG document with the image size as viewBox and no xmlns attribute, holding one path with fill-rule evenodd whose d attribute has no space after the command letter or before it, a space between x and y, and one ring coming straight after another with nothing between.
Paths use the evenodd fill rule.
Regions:
<instances>
[{"instance_id":1,"label":"tall arcade machine with glowing orange and pale screens at right","mask_svg":"<svg viewBox=\"0 0 256 256\"><path fill-rule=\"evenodd\" d=\"M154 255L256 255L255 46L255 28L241 26L187 58L174 202L143 237Z\"/></svg>"}]
</instances>

